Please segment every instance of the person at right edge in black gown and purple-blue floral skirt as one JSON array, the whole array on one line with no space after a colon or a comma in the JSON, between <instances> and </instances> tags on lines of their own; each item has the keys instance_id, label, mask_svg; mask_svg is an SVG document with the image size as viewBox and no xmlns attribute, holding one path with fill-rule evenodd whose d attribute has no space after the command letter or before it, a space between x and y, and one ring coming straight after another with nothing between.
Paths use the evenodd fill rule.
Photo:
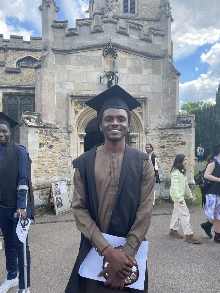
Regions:
<instances>
[{"instance_id":1,"label":"person at right edge in black gown and purple-blue floral skirt","mask_svg":"<svg viewBox=\"0 0 220 293\"><path fill-rule=\"evenodd\" d=\"M213 153L207 161L204 177L212 181L206 190L205 214L209 220L201 227L212 238L211 228L214 225L214 242L220 243L220 144L213 146Z\"/></svg>"}]
</instances>

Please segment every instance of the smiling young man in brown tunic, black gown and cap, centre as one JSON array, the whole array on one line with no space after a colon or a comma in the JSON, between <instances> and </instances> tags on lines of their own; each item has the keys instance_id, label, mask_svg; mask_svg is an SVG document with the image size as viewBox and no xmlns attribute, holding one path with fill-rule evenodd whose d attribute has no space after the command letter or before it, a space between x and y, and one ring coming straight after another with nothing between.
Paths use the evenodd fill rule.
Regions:
<instances>
[{"instance_id":1,"label":"smiling young man in brown tunic, black gown and cap, centre","mask_svg":"<svg viewBox=\"0 0 220 293\"><path fill-rule=\"evenodd\" d=\"M132 271L133 257L148 231L153 208L155 175L149 156L125 144L131 122L130 110L141 104L115 85L86 102L98 111L104 144L93 147L73 161L74 195L72 209L82 232L79 254L66 293L148 292L147 266L144 290L124 287ZM121 250L114 249L101 232L125 237ZM79 267L92 246L110 266L103 282L82 278ZM99 283L99 284L98 284Z\"/></svg>"}]
</instances>

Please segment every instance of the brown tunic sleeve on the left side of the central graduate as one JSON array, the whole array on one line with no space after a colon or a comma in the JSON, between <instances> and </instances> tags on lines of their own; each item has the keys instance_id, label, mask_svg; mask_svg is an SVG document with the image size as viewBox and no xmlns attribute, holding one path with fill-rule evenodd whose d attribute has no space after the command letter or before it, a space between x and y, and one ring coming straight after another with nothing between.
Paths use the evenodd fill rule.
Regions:
<instances>
[{"instance_id":1,"label":"brown tunic sleeve on the left side of the central graduate","mask_svg":"<svg viewBox=\"0 0 220 293\"><path fill-rule=\"evenodd\" d=\"M109 246L108 241L102 236L99 227L92 219L85 197L84 184L78 169L74 173L74 191L72 198L72 210L74 212L77 229L98 249L99 255Z\"/></svg>"}]
</instances>

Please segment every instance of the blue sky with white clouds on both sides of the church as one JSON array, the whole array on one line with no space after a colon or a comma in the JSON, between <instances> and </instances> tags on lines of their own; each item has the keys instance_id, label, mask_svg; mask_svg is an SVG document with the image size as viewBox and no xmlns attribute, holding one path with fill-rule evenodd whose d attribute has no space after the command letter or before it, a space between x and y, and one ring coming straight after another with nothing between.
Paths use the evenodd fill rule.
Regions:
<instances>
[{"instance_id":1,"label":"blue sky with white clouds on both sides of the church","mask_svg":"<svg viewBox=\"0 0 220 293\"><path fill-rule=\"evenodd\" d=\"M119 0L120 1L120 0ZM58 20L88 17L89 0L57 0ZM0 33L41 36L41 0L0 0ZM215 102L220 83L220 1L170 0L174 66L181 72L180 106L192 101Z\"/></svg>"}]
</instances>

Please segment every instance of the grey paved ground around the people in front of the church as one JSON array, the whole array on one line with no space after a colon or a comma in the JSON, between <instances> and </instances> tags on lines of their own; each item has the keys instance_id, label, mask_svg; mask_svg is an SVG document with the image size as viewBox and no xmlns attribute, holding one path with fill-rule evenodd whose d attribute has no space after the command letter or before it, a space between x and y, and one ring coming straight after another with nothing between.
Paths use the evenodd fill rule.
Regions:
<instances>
[{"instance_id":1,"label":"grey paved ground around the people in front of the church","mask_svg":"<svg viewBox=\"0 0 220 293\"><path fill-rule=\"evenodd\" d=\"M149 293L219 292L220 246L200 227L206 219L202 208L189 207L192 229L196 236L202 238L202 244L185 243L184 239L168 235L172 209L172 204L168 203L155 205L153 209L147 234ZM80 242L80 233L73 219L72 212L57 216L48 213L36 217L36 224L31 225L31 293L64 292ZM0 283L5 278L2 250ZM15 293L16 290L17 287L8 292ZM101 293L101 289L97 293Z\"/></svg>"}]
</instances>

